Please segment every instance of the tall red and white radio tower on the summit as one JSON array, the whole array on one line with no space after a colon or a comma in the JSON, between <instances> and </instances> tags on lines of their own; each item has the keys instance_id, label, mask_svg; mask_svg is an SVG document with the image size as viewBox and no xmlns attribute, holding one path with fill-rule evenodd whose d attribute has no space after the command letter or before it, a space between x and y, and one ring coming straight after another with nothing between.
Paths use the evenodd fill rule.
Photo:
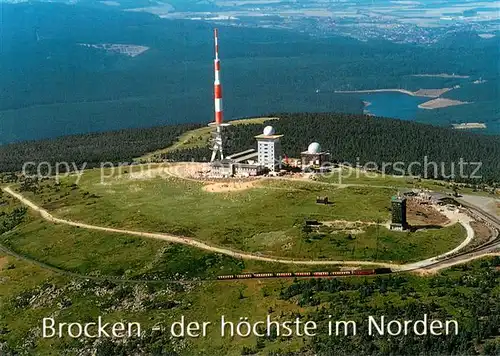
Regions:
<instances>
[{"instance_id":1,"label":"tall red and white radio tower on the summit","mask_svg":"<svg viewBox=\"0 0 500 356\"><path fill-rule=\"evenodd\" d=\"M214 105L215 105L215 121L208 124L215 127L212 133L212 158L210 162L215 161L217 153L220 153L220 159L224 159L222 152L222 127L229 126L223 122L223 109L222 109L222 85L220 82L220 59L219 59L219 36L217 29L214 29L215 40L215 60L214 60Z\"/></svg>"}]
</instances>

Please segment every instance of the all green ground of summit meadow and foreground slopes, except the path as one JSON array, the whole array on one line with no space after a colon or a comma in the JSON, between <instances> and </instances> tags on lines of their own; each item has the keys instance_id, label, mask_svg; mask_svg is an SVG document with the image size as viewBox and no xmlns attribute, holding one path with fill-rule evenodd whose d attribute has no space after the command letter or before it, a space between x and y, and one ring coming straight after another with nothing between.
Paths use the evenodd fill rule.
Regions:
<instances>
[{"instance_id":1,"label":"all green ground of summit meadow and foreground slopes, except the path","mask_svg":"<svg viewBox=\"0 0 500 356\"><path fill-rule=\"evenodd\" d=\"M189 140L188 140L189 141ZM182 141L180 141L182 142ZM87 170L77 182L67 177L24 181L12 188L56 217L99 226L164 232L225 248L300 259L342 259L404 263L434 256L465 237L461 225L417 232L393 232L390 197L401 187L433 187L361 174L337 184L267 179L246 190L209 192L208 182L144 166L122 175ZM158 175L158 176L156 176ZM78 183L78 184L76 184ZM333 204L318 205L317 196ZM306 220L324 223L309 229ZM355 231L336 224L356 222ZM330 224L329 224L330 223ZM341 224L341 223L340 223ZM130 235L93 231L44 220L0 194L0 354L14 355L329 355L487 354L500 352L498 258L454 267L436 276L409 274L332 280L215 281L229 273L336 270L339 266L294 266L239 260L200 249ZM456 318L458 337L171 338L154 325L187 321L217 325L221 315L237 322L313 320L325 328L328 315L362 323L368 315L391 318ZM141 338L69 337L42 339L42 318L58 322L139 322Z\"/></svg>"}]
</instances>

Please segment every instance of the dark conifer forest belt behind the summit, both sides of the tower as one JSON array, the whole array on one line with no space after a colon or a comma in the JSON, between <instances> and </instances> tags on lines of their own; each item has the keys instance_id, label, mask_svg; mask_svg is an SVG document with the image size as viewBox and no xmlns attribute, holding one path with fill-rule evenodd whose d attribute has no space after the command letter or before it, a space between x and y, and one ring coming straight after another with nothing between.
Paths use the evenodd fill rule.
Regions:
<instances>
[{"instance_id":1,"label":"dark conifer forest belt behind the summit, both sides of the tower","mask_svg":"<svg viewBox=\"0 0 500 356\"><path fill-rule=\"evenodd\" d=\"M300 157L311 142L319 142L323 150L331 153L332 162L365 165L379 168L383 163L403 162L407 168L412 162L411 173L424 174L421 170L428 162L427 178L446 179L452 173L459 175L459 162L464 175L470 175L481 162L475 175L481 179L455 177L456 181L500 181L500 136L480 135L449 128L435 127L414 122L373 118L365 115L339 113L278 113L280 120L264 124L235 125L226 129L225 150L235 153L256 147L254 136L265 125L273 125L283 134L283 154ZM170 146L182 133L198 128L198 124L180 124L147 129L128 129L106 133L65 136L57 139L30 141L0 146L0 171L20 171L24 162L75 163L81 167L98 167L102 162L131 162L145 153ZM169 152L162 160L207 161L209 147L191 148ZM426 158L427 157L427 158ZM437 175L432 162L437 163ZM444 168L442 168L444 167ZM385 172L397 174L391 165Z\"/></svg>"}]
</instances>

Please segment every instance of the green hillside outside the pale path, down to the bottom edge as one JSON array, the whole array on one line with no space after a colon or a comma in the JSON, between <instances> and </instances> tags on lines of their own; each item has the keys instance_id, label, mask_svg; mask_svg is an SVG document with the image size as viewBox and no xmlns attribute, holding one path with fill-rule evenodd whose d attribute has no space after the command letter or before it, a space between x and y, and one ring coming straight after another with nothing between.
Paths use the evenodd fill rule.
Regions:
<instances>
[{"instance_id":1,"label":"green hillside outside the pale path, down to the bottom edge","mask_svg":"<svg viewBox=\"0 0 500 356\"><path fill-rule=\"evenodd\" d=\"M2 355L295 355L309 354L484 354L497 355L500 258L456 266L437 275L345 277L331 280L202 281L219 273L269 271L286 266L243 261L192 247L139 237L92 232L45 222L0 193L1 243L19 258L0 251L0 352ZM122 203L123 204L123 203ZM92 209L92 208L88 208ZM181 209L178 209L181 210ZM36 237L36 238L35 238ZM1 246L3 248L3 246ZM294 268L294 267L291 267ZM295 267L296 268L296 267ZM73 274L71 274L73 273ZM108 279L109 278L109 279ZM159 278L185 278L160 281ZM134 279L134 283L126 283ZM180 316L217 323L220 315L238 321L316 321L325 330L328 315L355 320L359 334L314 338L172 338ZM456 319L459 335L368 337L364 320ZM58 322L139 322L140 338L42 339L40 320ZM342 318L342 319L341 319Z\"/></svg>"}]
</instances>

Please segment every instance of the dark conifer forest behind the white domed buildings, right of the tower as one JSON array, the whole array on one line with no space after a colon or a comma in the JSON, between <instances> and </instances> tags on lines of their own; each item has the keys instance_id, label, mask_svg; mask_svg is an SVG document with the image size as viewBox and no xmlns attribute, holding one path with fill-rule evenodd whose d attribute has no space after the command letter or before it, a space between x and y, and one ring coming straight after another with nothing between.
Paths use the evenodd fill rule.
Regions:
<instances>
[{"instance_id":1,"label":"dark conifer forest behind the white domed buildings, right of the tower","mask_svg":"<svg viewBox=\"0 0 500 356\"><path fill-rule=\"evenodd\" d=\"M226 152L256 148L254 136L261 133L265 125L272 125L277 133L284 135L281 143L283 154L288 157L300 157L300 153L316 141L331 153L334 162L351 165L373 162L369 168L402 162L398 166L404 168L405 173L411 168L412 174L427 178L446 179L454 173L454 180L459 182L500 181L499 136L364 115L277 113L273 116L281 119L263 125L228 127ZM164 157L198 161L210 155L208 148L199 148L171 152ZM464 162L462 172L461 160ZM384 171L398 174L399 167L386 165ZM474 172L476 168L479 169Z\"/></svg>"}]
</instances>

